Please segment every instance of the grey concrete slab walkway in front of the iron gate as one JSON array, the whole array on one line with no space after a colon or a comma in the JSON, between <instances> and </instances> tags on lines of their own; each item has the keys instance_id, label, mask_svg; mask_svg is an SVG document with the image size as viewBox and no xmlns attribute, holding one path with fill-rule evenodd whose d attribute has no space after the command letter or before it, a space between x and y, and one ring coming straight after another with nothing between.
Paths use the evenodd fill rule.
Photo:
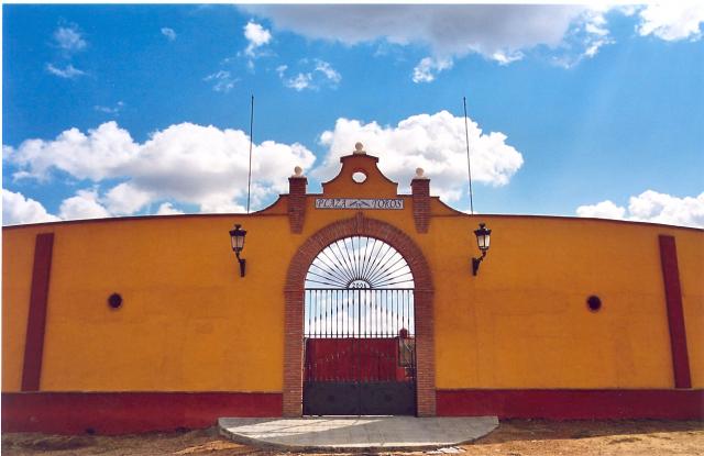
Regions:
<instances>
[{"instance_id":1,"label":"grey concrete slab walkway in front of the iron gate","mask_svg":"<svg viewBox=\"0 0 704 456\"><path fill-rule=\"evenodd\" d=\"M496 416L221 418L220 434L250 445L292 451L413 451L459 445L498 426Z\"/></svg>"}]
</instances>

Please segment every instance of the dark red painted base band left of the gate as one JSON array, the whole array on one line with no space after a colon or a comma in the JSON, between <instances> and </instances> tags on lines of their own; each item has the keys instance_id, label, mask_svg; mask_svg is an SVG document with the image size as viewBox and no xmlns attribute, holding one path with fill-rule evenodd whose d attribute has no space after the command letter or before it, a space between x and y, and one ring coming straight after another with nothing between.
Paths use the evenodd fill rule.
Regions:
<instances>
[{"instance_id":1,"label":"dark red painted base band left of the gate","mask_svg":"<svg viewBox=\"0 0 704 456\"><path fill-rule=\"evenodd\" d=\"M280 415L280 393L2 393L2 432L128 434L208 427L221 416Z\"/></svg>"}]
</instances>

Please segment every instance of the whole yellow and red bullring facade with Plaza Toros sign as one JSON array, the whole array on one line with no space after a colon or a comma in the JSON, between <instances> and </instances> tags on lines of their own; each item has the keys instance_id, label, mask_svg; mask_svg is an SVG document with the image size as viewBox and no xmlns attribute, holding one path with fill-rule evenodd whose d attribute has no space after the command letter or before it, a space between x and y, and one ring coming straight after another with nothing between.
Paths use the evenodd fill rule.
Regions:
<instances>
[{"instance_id":1,"label":"whole yellow and red bullring facade with Plaza Toros sign","mask_svg":"<svg viewBox=\"0 0 704 456\"><path fill-rule=\"evenodd\" d=\"M4 227L3 431L702 418L702 230L471 215L377 162L356 147L320 194L298 169L252 214Z\"/></svg>"}]
</instances>

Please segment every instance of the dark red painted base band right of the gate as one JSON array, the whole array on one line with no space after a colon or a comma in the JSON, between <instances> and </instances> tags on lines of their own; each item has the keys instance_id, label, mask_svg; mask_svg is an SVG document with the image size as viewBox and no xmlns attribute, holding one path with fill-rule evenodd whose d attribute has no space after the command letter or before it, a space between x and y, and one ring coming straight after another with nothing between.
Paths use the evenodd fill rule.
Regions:
<instances>
[{"instance_id":1,"label":"dark red painted base band right of the gate","mask_svg":"<svg viewBox=\"0 0 704 456\"><path fill-rule=\"evenodd\" d=\"M438 416L704 419L704 390L439 390Z\"/></svg>"}]
</instances>

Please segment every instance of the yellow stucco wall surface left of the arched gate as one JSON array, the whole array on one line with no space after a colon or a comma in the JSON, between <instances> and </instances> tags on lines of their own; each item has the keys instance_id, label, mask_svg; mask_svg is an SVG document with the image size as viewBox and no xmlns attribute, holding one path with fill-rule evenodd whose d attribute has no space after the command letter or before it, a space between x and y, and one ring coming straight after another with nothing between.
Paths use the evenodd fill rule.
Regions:
<instances>
[{"instance_id":1,"label":"yellow stucco wall surface left of the arched gate","mask_svg":"<svg viewBox=\"0 0 704 456\"><path fill-rule=\"evenodd\" d=\"M179 219L179 220L177 220ZM21 383L34 236L54 232L42 390L279 391L282 216L246 221L246 280L230 218L157 218L3 231L3 391ZM245 255L246 256L246 255ZM277 283L279 286L273 286ZM111 310L107 298L123 297Z\"/></svg>"}]
</instances>

